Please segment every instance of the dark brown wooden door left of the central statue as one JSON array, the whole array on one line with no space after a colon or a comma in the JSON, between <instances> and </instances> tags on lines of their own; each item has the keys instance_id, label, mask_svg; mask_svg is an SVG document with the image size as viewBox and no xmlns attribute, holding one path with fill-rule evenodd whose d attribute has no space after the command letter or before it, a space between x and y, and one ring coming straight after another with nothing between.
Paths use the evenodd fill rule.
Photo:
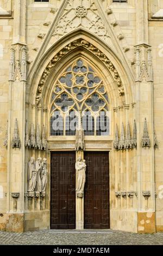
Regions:
<instances>
[{"instance_id":1,"label":"dark brown wooden door left of the central statue","mask_svg":"<svg viewBox=\"0 0 163 256\"><path fill-rule=\"evenodd\" d=\"M51 154L51 229L76 227L76 155Z\"/></svg>"}]
</instances>

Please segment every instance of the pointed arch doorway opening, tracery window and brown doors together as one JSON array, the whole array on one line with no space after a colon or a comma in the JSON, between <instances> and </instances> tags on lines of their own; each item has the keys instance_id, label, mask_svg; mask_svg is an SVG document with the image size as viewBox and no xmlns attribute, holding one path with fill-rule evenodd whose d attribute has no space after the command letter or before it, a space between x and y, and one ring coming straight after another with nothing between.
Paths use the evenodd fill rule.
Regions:
<instances>
[{"instance_id":1,"label":"pointed arch doorway opening, tracery window and brown doors together","mask_svg":"<svg viewBox=\"0 0 163 256\"><path fill-rule=\"evenodd\" d=\"M108 229L109 153L98 148L101 138L109 136L110 117L109 95L101 74L81 57L72 62L54 84L49 110L49 134L53 141L62 140L67 148L71 147L67 141L74 143L81 118L85 141L91 138L95 150L82 149L75 154L64 149L51 153L51 228ZM95 138L97 141L93 142ZM83 198L76 195L74 169L80 154L87 165Z\"/></svg>"}]
</instances>

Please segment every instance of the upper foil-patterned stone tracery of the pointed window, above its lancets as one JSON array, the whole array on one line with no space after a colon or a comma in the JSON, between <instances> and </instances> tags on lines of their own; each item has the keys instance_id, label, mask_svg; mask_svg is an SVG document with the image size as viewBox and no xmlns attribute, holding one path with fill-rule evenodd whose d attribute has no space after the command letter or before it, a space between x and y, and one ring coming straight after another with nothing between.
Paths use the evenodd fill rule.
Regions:
<instances>
[{"instance_id":1,"label":"upper foil-patterned stone tracery of the pointed window, above its lancets","mask_svg":"<svg viewBox=\"0 0 163 256\"><path fill-rule=\"evenodd\" d=\"M78 59L59 77L52 93L51 114L56 108L66 112L89 108L91 112L108 109L108 95L102 79L84 60Z\"/></svg>"}]
</instances>

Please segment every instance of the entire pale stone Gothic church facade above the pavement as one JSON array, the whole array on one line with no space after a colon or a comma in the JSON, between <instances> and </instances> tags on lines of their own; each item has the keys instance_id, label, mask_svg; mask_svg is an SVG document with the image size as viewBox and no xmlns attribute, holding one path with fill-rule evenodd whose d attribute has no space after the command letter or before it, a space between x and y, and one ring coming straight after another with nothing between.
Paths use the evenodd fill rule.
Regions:
<instances>
[{"instance_id":1,"label":"entire pale stone Gothic church facade above the pavement","mask_svg":"<svg viewBox=\"0 0 163 256\"><path fill-rule=\"evenodd\" d=\"M1 230L163 230L162 10L1 1Z\"/></svg>"}]
</instances>

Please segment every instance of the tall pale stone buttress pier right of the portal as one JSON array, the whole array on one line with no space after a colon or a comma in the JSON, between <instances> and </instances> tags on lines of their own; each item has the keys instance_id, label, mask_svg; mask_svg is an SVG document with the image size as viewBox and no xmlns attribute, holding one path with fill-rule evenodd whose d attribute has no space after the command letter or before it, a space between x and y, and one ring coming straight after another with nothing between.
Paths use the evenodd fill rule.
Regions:
<instances>
[{"instance_id":1,"label":"tall pale stone buttress pier right of the portal","mask_svg":"<svg viewBox=\"0 0 163 256\"><path fill-rule=\"evenodd\" d=\"M148 233L155 232L154 143L153 143L153 70L148 41L148 1L136 1L136 124L137 124L137 221L138 232L146 233L142 224L150 216ZM142 136L147 120L150 145L143 147ZM149 146L149 147L148 147ZM144 191L150 193L145 196ZM148 203L148 204L147 204ZM150 226L150 227L149 227Z\"/></svg>"}]
</instances>

